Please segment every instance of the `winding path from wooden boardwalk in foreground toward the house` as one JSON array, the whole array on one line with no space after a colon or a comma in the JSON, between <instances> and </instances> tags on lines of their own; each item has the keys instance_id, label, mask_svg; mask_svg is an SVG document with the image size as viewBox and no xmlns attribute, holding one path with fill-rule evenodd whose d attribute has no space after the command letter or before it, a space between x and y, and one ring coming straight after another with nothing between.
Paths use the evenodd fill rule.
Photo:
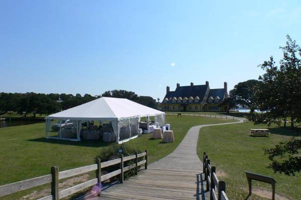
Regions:
<instances>
[{"instance_id":1,"label":"winding path from wooden boardwalk in foreground toward the house","mask_svg":"<svg viewBox=\"0 0 301 200\"><path fill-rule=\"evenodd\" d=\"M164 158L148 165L138 175L123 184L105 188L100 197L105 199L202 199L209 200L202 174L202 162L197 155L197 142L201 127L238 122L197 125L189 129L178 147Z\"/></svg>"}]
</instances>

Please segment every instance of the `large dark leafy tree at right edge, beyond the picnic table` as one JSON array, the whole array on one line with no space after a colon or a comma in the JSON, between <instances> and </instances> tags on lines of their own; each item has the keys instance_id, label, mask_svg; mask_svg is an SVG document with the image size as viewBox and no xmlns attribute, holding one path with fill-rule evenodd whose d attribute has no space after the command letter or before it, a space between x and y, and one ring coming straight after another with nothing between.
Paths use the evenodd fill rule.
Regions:
<instances>
[{"instance_id":1,"label":"large dark leafy tree at right edge, beyond the picnic table","mask_svg":"<svg viewBox=\"0 0 301 200\"><path fill-rule=\"evenodd\" d=\"M253 113L249 116L254 123L284 121L290 117L291 127L294 122L301 121L301 48L286 36L286 45L279 47L283 51L283 58L279 66L271 56L259 66L265 70L259 80L262 85L255 91L256 105L264 113Z\"/></svg>"}]
</instances>

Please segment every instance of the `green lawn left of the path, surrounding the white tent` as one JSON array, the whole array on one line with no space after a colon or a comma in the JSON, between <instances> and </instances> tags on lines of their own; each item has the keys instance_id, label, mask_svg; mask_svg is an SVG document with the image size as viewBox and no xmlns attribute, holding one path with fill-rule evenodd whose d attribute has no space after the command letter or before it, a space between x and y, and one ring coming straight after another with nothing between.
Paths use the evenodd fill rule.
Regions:
<instances>
[{"instance_id":1,"label":"green lawn left of the path, surrounding the white tent","mask_svg":"<svg viewBox=\"0 0 301 200\"><path fill-rule=\"evenodd\" d=\"M161 139L150 139L150 134L143 134L127 142L141 150L147 149L149 163L172 152L190 127L233 120L167 115L166 121L174 130L175 142L162 143ZM92 164L99 150L111 145L91 140L77 142L45 139L45 123L0 128L0 136L0 185L49 174L50 167L53 165L59 166L60 170L66 170ZM35 189L0 197L0 199L20 198Z\"/></svg>"}]
</instances>

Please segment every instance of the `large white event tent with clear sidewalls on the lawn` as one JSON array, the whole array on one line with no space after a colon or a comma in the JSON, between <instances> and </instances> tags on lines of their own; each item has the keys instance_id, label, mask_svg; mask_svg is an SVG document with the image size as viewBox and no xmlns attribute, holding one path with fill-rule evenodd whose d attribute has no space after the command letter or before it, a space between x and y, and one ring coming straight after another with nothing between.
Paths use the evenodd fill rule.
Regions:
<instances>
[{"instance_id":1,"label":"large white event tent with clear sidewalls on the lawn","mask_svg":"<svg viewBox=\"0 0 301 200\"><path fill-rule=\"evenodd\" d=\"M165 113L126 98L101 97L90 102L47 116L46 138L80 140L81 124L91 120L111 121L117 142L137 137L140 117L155 116L155 124L165 124ZM48 136L51 119L71 120L75 124L77 138ZM61 127L61 126L60 126ZM148 126L147 126L148 127Z\"/></svg>"}]
</instances>

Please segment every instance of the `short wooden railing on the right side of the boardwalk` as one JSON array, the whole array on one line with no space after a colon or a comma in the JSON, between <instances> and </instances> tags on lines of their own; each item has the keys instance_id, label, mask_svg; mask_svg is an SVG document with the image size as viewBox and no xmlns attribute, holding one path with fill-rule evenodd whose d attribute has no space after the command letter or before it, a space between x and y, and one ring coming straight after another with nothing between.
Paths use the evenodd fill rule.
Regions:
<instances>
[{"instance_id":1,"label":"short wooden railing on the right side of the boardwalk","mask_svg":"<svg viewBox=\"0 0 301 200\"><path fill-rule=\"evenodd\" d=\"M203 156L203 173L205 174L206 190L210 191L210 200L229 200L225 193L226 183L217 178L216 167L210 165L210 159L206 152Z\"/></svg>"}]
</instances>

